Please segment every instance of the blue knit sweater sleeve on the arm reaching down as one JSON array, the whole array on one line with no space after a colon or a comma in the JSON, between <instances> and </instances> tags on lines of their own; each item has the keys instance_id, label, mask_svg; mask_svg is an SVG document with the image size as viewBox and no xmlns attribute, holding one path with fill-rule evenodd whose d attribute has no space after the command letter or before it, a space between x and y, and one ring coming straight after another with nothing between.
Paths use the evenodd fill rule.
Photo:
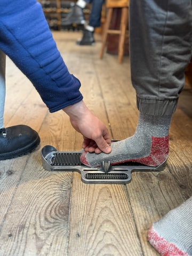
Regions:
<instances>
[{"instance_id":1,"label":"blue knit sweater sleeve on the arm reaching down","mask_svg":"<svg viewBox=\"0 0 192 256\"><path fill-rule=\"evenodd\" d=\"M50 112L83 99L36 0L0 1L0 49L30 79Z\"/></svg>"}]
</instances>

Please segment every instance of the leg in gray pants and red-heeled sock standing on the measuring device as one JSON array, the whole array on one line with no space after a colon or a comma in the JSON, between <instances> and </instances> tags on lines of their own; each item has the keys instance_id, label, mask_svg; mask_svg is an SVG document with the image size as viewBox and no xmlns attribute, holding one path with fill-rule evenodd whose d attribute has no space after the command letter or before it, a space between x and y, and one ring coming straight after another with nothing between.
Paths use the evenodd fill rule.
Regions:
<instances>
[{"instance_id":1,"label":"leg in gray pants and red-heeled sock standing on the measuring device","mask_svg":"<svg viewBox=\"0 0 192 256\"><path fill-rule=\"evenodd\" d=\"M175 2L175 3L174 3ZM132 84L140 112L133 137L111 144L111 153L84 151L82 162L99 166L134 161L161 164L169 153L169 127L191 56L191 0L130 1Z\"/></svg>"}]
</instances>

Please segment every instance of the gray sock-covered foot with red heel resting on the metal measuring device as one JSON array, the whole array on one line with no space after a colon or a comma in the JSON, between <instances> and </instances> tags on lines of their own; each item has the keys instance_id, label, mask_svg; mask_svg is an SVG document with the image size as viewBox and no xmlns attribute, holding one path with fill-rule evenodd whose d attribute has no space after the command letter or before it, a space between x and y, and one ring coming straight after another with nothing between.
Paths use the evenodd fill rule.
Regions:
<instances>
[{"instance_id":1,"label":"gray sock-covered foot with red heel resting on the metal measuring device","mask_svg":"<svg viewBox=\"0 0 192 256\"><path fill-rule=\"evenodd\" d=\"M171 116L139 115L135 134L122 141L111 143L110 154L95 154L84 151L83 164L100 166L103 161L111 164L137 162L148 166L158 166L169 154L169 127Z\"/></svg>"}]
</instances>

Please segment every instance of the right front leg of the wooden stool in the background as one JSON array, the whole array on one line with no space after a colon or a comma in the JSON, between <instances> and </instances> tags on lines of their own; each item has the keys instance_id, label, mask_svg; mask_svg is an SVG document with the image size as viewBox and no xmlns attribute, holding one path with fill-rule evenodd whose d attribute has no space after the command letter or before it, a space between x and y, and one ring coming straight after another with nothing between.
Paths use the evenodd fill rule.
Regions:
<instances>
[{"instance_id":1,"label":"right front leg of the wooden stool in the background","mask_svg":"<svg viewBox=\"0 0 192 256\"><path fill-rule=\"evenodd\" d=\"M129 10L128 7L122 8L122 15L121 15L121 34L119 36L119 45L118 45L118 62L122 63L123 61L123 54L124 54L124 46L125 46L125 34L128 25L128 17Z\"/></svg>"}]
</instances>

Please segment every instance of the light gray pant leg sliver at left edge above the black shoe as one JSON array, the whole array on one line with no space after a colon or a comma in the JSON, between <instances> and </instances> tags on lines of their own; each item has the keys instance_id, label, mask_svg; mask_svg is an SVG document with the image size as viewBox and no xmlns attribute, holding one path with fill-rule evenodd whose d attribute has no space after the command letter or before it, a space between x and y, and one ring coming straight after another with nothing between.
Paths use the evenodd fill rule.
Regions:
<instances>
[{"instance_id":1,"label":"light gray pant leg sliver at left edge above the black shoe","mask_svg":"<svg viewBox=\"0 0 192 256\"><path fill-rule=\"evenodd\" d=\"M0 50L0 129L3 127L5 105L5 54Z\"/></svg>"}]
</instances>

